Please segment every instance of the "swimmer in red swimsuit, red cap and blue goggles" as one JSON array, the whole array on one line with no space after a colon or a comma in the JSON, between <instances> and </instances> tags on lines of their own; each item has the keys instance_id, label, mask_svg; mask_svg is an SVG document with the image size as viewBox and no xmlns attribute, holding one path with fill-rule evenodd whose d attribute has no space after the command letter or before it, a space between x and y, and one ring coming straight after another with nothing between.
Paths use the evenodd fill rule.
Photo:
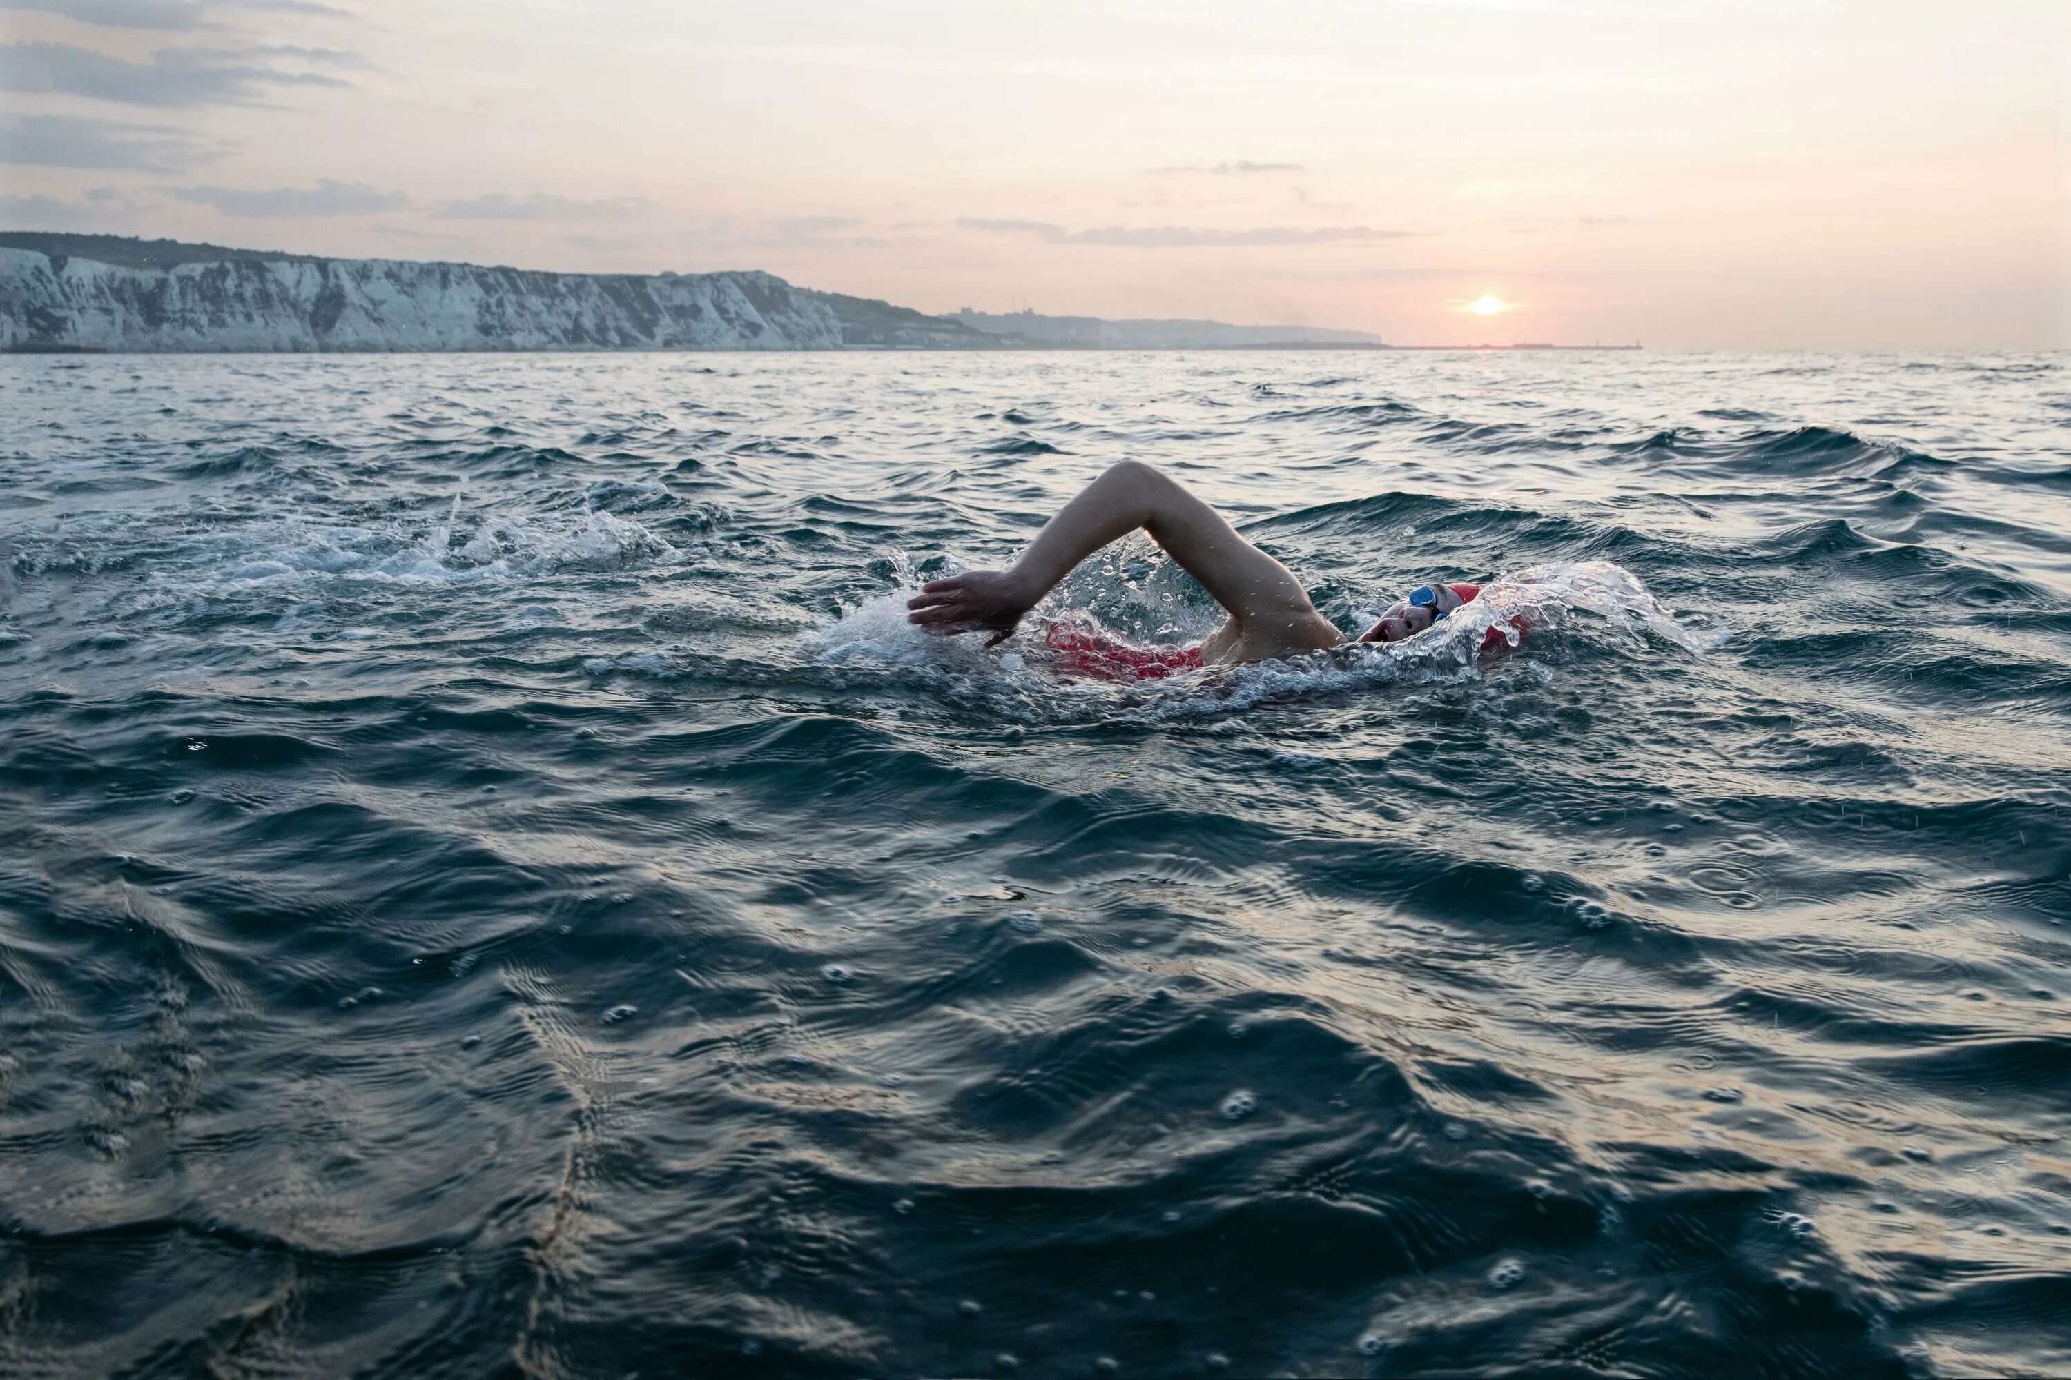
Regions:
<instances>
[{"instance_id":1,"label":"swimmer in red swimsuit, red cap and blue goggles","mask_svg":"<svg viewBox=\"0 0 2071 1380\"><path fill-rule=\"evenodd\" d=\"M1083 662L1081 670L1104 679L1164 677L1197 666L1323 652L1348 641L1315 610L1288 567L1238 536L1176 480L1135 459L1120 461L1079 490L1009 569L930 579L907 600L907 621L934 633L990 633L986 646L998 646L1075 565L1137 528L1149 532L1230 617L1197 648L1131 648L1052 625L1050 646ZM1427 583L1388 608L1357 641L1402 641L1479 594L1481 586ZM1493 629L1491 635L1501 641Z\"/></svg>"}]
</instances>

